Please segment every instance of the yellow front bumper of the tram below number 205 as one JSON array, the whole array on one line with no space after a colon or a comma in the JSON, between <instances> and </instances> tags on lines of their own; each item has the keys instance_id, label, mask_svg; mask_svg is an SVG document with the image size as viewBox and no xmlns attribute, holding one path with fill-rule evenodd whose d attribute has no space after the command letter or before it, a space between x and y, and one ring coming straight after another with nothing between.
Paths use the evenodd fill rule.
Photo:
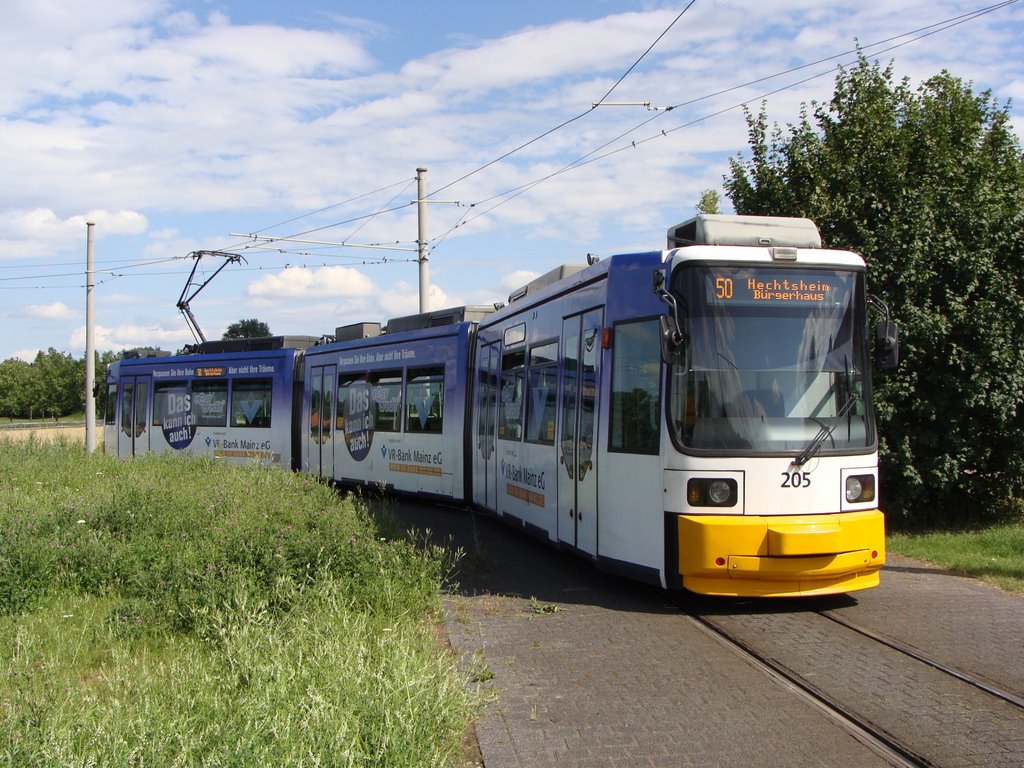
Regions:
<instances>
[{"instance_id":1,"label":"yellow front bumper of the tram below number 205","mask_svg":"<svg viewBox=\"0 0 1024 768\"><path fill-rule=\"evenodd\" d=\"M681 515L679 573L705 595L793 597L876 587L885 564L882 512L739 517Z\"/></svg>"}]
</instances>

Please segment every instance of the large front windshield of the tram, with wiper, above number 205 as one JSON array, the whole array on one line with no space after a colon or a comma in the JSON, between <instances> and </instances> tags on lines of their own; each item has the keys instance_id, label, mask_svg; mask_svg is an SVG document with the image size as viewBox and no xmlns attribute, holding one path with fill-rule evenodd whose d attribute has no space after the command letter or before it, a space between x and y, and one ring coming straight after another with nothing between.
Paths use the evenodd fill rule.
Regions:
<instances>
[{"instance_id":1,"label":"large front windshield of the tram, with wiper, above number 205","mask_svg":"<svg viewBox=\"0 0 1024 768\"><path fill-rule=\"evenodd\" d=\"M821 454L873 444L863 273L681 266L670 424L684 451ZM813 447L811 447L813 446Z\"/></svg>"}]
</instances>

